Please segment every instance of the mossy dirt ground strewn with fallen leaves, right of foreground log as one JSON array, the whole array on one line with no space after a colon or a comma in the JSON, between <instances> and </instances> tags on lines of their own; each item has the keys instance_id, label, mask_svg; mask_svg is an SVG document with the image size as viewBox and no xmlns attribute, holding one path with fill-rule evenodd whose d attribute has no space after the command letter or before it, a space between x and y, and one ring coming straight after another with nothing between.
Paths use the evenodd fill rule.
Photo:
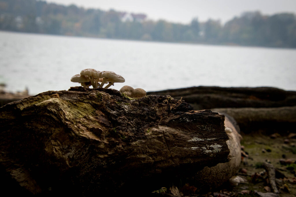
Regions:
<instances>
[{"instance_id":1,"label":"mossy dirt ground strewn with fallen leaves, right of foreground log","mask_svg":"<svg viewBox=\"0 0 296 197\"><path fill-rule=\"evenodd\" d=\"M237 176L242 183L232 186L226 183L221 188L207 193L199 193L194 185L170 188L173 192L163 196L204 196L204 197L290 197L296 196L296 133L266 135L260 132L242 134L242 162ZM266 165L275 169L276 189L274 191ZM181 193L182 192L182 193ZM172 195L172 193L174 195Z\"/></svg>"}]
</instances>

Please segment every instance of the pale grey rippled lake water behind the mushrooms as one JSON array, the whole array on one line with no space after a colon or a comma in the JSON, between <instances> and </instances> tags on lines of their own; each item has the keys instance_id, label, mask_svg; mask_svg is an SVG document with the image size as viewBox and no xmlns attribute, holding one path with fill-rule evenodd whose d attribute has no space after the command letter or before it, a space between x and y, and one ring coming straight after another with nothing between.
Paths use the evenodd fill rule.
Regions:
<instances>
[{"instance_id":1,"label":"pale grey rippled lake water behind the mushrooms","mask_svg":"<svg viewBox=\"0 0 296 197\"><path fill-rule=\"evenodd\" d=\"M79 85L70 78L94 68L146 91L192 86L296 90L296 49L108 40L0 31L0 82L32 95Z\"/></svg>"}]
</instances>

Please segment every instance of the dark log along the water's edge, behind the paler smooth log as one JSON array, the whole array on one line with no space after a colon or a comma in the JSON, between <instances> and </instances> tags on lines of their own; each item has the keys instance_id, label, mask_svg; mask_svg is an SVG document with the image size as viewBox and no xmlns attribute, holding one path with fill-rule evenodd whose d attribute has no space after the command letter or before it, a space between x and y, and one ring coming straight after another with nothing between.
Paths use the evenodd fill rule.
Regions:
<instances>
[{"instance_id":1,"label":"dark log along the water's edge, behind the paler smooth log","mask_svg":"<svg viewBox=\"0 0 296 197\"><path fill-rule=\"evenodd\" d=\"M147 95L182 97L196 110L212 108L276 108L296 105L296 92L273 87L188 87L147 92Z\"/></svg>"}]
</instances>

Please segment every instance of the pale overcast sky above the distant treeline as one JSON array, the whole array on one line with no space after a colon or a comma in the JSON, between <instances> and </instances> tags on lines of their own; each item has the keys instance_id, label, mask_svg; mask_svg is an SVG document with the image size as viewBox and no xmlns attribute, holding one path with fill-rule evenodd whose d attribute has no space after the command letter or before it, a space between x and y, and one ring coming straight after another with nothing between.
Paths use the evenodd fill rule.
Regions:
<instances>
[{"instance_id":1,"label":"pale overcast sky above the distant treeline","mask_svg":"<svg viewBox=\"0 0 296 197\"><path fill-rule=\"evenodd\" d=\"M200 22L221 19L226 22L245 11L262 14L280 12L296 13L296 0L46 0L58 4L83 6L84 8L115 9L144 13L149 19L165 19L170 22L189 23L194 17Z\"/></svg>"}]
</instances>

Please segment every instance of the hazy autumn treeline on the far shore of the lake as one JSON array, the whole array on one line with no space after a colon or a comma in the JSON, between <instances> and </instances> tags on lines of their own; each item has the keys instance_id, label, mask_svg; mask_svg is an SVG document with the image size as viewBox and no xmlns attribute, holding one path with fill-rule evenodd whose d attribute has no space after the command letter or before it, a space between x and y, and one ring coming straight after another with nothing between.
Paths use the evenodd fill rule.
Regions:
<instances>
[{"instance_id":1,"label":"hazy autumn treeline on the far shore of the lake","mask_svg":"<svg viewBox=\"0 0 296 197\"><path fill-rule=\"evenodd\" d=\"M198 15L198 13L196 13ZM144 14L84 9L36 0L0 0L0 30L164 42L296 47L295 14L245 12L188 25L146 20Z\"/></svg>"}]
</instances>

